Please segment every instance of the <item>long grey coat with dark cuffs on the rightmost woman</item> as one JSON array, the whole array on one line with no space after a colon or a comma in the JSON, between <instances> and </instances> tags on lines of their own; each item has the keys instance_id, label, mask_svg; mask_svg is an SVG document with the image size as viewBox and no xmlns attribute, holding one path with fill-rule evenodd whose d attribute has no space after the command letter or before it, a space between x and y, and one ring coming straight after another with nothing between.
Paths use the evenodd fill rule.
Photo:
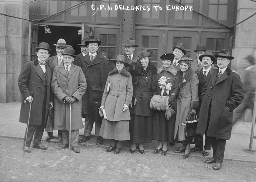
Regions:
<instances>
[{"instance_id":1,"label":"long grey coat with dark cuffs on the rightmost woman","mask_svg":"<svg viewBox=\"0 0 256 182\"><path fill-rule=\"evenodd\" d=\"M180 76L179 93L177 95L177 113L174 127L174 139L184 141L185 138L185 124L188 114L191 109L199 108L198 99L198 77L194 70L188 68L184 78L182 78L182 71L178 71Z\"/></svg>"}]
</instances>

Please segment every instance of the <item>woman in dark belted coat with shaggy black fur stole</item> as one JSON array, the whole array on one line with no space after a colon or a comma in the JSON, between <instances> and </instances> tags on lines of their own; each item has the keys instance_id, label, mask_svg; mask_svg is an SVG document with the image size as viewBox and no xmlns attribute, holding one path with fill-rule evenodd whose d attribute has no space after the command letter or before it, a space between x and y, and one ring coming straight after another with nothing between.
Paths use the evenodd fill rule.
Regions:
<instances>
[{"instance_id":1,"label":"woman in dark belted coat with shaggy black fur stole","mask_svg":"<svg viewBox=\"0 0 256 182\"><path fill-rule=\"evenodd\" d=\"M143 50L139 54L140 62L134 62L129 69L133 82L132 108L130 109L131 120L130 139L131 153L134 153L139 144L140 153L144 154L143 143L152 140L152 116L150 99L158 84L157 68L150 62L149 50Z\"/></svg>"}]
</instances>

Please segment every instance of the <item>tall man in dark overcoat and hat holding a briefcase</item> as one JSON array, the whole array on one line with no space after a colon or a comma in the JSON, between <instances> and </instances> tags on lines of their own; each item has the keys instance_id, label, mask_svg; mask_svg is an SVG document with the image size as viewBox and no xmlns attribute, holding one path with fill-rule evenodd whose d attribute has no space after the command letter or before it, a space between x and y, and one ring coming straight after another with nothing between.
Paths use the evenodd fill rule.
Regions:
<instances>
[{"instance_id":1,"label":"tall man in dark overcoat and hat holding a briefcase","mask_svg":"<svg viewBox=\"0 0 256 182\"><path fill-rule=\"evenodd\" d=\"M101 41L96 36L91 35L85 41L85 44L89 49L89 53L82 57L79 62L79 66L82 68L87 82L87 89L82 100L82 117L85 118L85 127L84 137L79 142L85 143L90 139L93 122L95 122L96 144L102 145L103 139L99 135L102 119L99 121L92 120L92 106L93 103L101 101L110 70L106 58L97 51Z\"/></svg>"}]
</instances>

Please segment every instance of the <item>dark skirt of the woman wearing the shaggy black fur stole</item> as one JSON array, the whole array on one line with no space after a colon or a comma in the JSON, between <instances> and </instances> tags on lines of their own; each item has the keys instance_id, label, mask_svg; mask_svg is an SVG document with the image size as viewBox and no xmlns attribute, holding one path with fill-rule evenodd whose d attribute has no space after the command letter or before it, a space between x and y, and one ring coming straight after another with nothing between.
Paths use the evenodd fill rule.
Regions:
<instances>
[{"instance_id":1,"label":"dark skirt of the woman wearing the shaggy black fur stole","mask_svg":"<svg viewBox=\"0 0 256 182\"><path fill-rule=\"evenodd\" d=\"M131 114L129 127L130 139L132 143L151 143L152 116L139 116Z\"/></svg>"}]
</instances>

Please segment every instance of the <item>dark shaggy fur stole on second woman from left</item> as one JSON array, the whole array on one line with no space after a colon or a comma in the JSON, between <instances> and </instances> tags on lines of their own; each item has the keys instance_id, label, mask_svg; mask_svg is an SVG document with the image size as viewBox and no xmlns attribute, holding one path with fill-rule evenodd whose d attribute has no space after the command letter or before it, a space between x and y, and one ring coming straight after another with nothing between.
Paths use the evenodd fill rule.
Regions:
<instances>
[{"instance_id":1,"label":"dark shaggy fur stole on second woman from left","mask_svg":"<svg viewBox=\"0 0 256 182\"><path fill-rule=\"evenodd\" d=\"M158 86L158 75L157 75L157 68L155 65L153 65L153 63L148 62L148 66L146 70L144 70L140 62L132 62L129 72L131 73L131 76L132 76L133 88L134 88L134 85L138 83L138 78L151 75L152 76L151 88L152 90L156 90L156 87Z\"/></svg>"}]
</instances>

